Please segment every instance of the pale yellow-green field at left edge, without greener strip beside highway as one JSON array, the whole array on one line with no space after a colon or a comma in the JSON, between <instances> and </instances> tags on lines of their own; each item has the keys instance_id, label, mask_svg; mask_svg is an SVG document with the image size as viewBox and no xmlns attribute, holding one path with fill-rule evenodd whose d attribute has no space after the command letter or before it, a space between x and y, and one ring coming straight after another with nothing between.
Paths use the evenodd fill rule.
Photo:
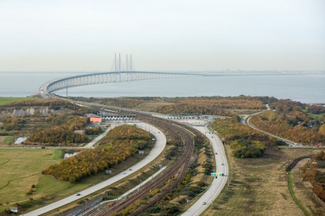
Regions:
<instances>
[{"instance_id":1,"label":"pale yellow-green field at left edge, without greener strip beside highway","mask_svg":"<svg viewBox=\"0 0 325 216\"><path fill-rule=\"evenodd\" d=\"M41 171L60 161L53 159L53 152L54 150L1 149L0 203L28 199L30 196L26 193L31 189L31 185L39 183ZM38 195L41 194L37 193L36 196Z\"/></svg>"}]
</instances>

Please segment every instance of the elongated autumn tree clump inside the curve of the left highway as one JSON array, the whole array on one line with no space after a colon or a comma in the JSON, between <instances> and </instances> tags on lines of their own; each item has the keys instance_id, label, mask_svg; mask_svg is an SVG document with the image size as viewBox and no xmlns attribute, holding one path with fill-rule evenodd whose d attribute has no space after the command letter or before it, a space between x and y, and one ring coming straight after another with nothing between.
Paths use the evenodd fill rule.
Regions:
<instances>
[{"instance_id":1,"label":"elongated autumn tree clump inside the curve of the left highway","mask_svg":"<svg viewBox=\"0 0 325 216\"><path fill-rule=\"evenodd\" d=\"M126 160L149 145L152 145L149 132L122 125L112 129L101 141L100 147L82 151L59 164L51 165L42 173L53 175L61 181L80 182L87 176Z\"/></svg>"}]
</instances>

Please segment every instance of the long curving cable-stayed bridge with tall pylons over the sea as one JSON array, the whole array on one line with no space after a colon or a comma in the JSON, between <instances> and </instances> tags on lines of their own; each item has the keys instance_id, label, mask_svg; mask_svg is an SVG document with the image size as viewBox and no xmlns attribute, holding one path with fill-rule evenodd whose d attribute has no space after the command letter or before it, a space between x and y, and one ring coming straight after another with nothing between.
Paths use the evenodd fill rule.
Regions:
<instances>
[{"instance_id":1,"label":"long curving cable-stayed bridge with tall pylons over the sea","mask_svg":"<svg viewBox=\"0 0 325 216\"><path fill-rule=\"evenodd\" d=\"M128 62L126 62L126 70L121 71L120 62L121 62L120 59L117 62L116 55L115 55L115 71L78 75L78 76L49 81L44 83L40 87L40 93L44 98L49 98L51 97L50 93L53 91L59 89L68 90L68 88L75 87L75 86L124 82L124 81L149 80L149 79L216 76L212 74L201 74L201 73L194 74L194 73L167 73L167 72L156 72L156 71L132 71L132 56L131 56L131 62L129 63L129 65L131 66L128 67Z\"/></svg>"}]
</instances>

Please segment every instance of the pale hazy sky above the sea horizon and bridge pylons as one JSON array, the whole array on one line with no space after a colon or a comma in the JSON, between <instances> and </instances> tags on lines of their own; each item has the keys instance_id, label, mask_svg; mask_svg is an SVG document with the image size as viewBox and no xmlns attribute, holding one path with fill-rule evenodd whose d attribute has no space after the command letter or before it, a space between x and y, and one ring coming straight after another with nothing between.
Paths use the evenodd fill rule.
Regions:
<instances>
[{"instance_id":1,"label":"pale hazy sky above the sea horizon and bridge pylons","mask_svg":"<svg viewBox=\"0 0 325 216\"><path fill-rule=\"evenodd\" d=\"M0 0L0 71L325 70L324 0Z\"/></svg>"}]
</instances>

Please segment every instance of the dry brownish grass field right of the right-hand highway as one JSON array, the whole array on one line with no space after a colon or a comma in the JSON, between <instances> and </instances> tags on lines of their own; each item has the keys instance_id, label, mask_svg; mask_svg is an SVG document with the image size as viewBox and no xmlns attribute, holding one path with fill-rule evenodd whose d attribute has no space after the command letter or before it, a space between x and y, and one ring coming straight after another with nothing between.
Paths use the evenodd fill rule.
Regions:
<instances>
[{"instance_id":1,"label":"dry brownish grass field right of the right-hand highway","mask_svg":"<svg viewBox=\"0 0 325 216\"><path fill-rule=\"evenodd\" d=\"M226 148L232 167L231 184L205 215L305 215L291 198L284 168L311 149L268 149L263 158L236 159L231 156L230 147ZM323 206L314 202L311 193L305 187L297 187L299 178L294 177L293 181L296 196L310 215L323 215Z\"/></svg>"}]
</instances>

